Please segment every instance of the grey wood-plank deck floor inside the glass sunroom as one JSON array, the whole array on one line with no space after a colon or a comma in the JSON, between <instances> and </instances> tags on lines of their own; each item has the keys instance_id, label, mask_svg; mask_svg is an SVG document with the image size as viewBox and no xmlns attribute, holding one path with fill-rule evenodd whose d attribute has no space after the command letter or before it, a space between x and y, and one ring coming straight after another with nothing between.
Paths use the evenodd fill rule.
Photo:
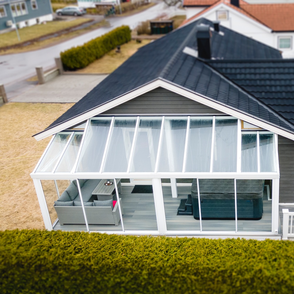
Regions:
<instances>
[{"instance_id":1,"label":"grey wood-plank deck floor inside the glass sunroom","mask_svg":"<svg viewBox=\"0 0 294 294\"><path fill-rule=\"evenodd\" d=\"M153 194L132 194L134 186L122 186L120 194L123 206L123 225L125 230L157 230ZM178 198L172 198L171 187L163 186L163 201L168 230L200 230L200 221L193 216L177 216L180 199L186 199L191 194L191 186L179 186ZM260 220L238 220L238 231L271 231L271 206L266 189L263 195L263 216ZM203 230L231 230L235 231L235 220L203 220ZM122 230L121 222L115 225L89 225L95 231ZM54 230L86 231L86 225L55 225Z\"/></svg>"}]
</instances>

